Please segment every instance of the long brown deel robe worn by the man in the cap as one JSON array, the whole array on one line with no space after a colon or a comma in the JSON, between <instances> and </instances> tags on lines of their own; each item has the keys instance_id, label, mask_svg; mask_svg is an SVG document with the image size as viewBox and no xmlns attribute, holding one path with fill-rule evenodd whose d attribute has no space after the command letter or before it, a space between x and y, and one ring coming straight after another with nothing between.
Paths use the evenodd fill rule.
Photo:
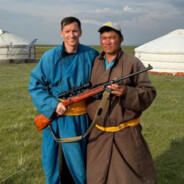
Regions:
<instances>
[{"instance_id":1,"label":"long brown deel robe worn by the man in the cap","mask_svg":"<svg viewBox=\"0 0 184 184\"><path fill-rule=\"evenodd\" d=\"M144 68L137 58L120 51L115 65L105 70L101 54L95 60L91 82L107 82ZM140 117L156 96L147 72L123 83L127 86L126 95L111 95L97 122L100 126L117 126ZM99 102L94 98L89 101L87 111L91 119ZM141 130L141 125L137 125L109 133L94 127L87 148L87 184L156 184L153 160Z\"/></svg>"}]
</instances>

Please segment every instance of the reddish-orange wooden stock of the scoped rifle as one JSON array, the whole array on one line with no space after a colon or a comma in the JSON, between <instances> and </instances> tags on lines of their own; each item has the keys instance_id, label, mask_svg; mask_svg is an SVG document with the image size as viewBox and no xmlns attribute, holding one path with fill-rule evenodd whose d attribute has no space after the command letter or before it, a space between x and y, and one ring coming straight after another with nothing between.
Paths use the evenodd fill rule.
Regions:
<instances>
[{"instance_id":1,"label":"reddish-orange wooden stock of the scoped rifle","mask_svg":"<svg viewBox=\"0 0 184 184\"><path fill-rule=\"evenodd\" d=\"M83 92L79 95L76 95L74 97L70 97L70 98L62 101L62 103L65 107L67 107L67 106L71 105L72 103L79 102L79 101L82 101L88 97L91 97L91 96L103 91L104 89L105 89L105 87L103 85L98 86L96 88L93 88L89 91L85 91L85 92ZM57 115L55 113L52 115L51 118L47 118L43 114L36 116L34 118L34 123L36 125L37 130L43 130L56 117L57 117Z\"/></svg>"}]
</instances>

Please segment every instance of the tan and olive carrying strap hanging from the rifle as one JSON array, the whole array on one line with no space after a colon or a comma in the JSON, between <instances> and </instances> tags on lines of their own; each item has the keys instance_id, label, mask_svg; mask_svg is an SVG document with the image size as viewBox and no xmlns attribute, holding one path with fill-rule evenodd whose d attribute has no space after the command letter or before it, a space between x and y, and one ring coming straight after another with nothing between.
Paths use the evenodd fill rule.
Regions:
<instances>
[{"instance_id":1,"label":"tan and olive carrying strap hanging from the rifle","mask_svg":"<svg viewBox=\"0 0 184 184\"><path fill-rule=\"evenodd\" d=\"M50 129L50 131L51 131L55 141L56 142L60 142L60 143L64 143L64 142L66 143L66 142L80 141L81 139L85 138L90 133L91 129L95 126L98 118L102 114L102 111L103 111L103 109L105 107L105 104L106 104L106 102L107 102L107 100L108 100L108 98L110 96L110 92L111 92L111 89L106 87L105 91L103 92L103 96L102 96L102 99L101 99L100 104L98 106L98 109L97 109L97 111L95 113L95 116L93 118L93 121L92 121L91 125L89 126L89 128L86 130L86 132L83 135L76 136L76 137L68 137L68 138L60 139L60 138L56 137L55 133L52 130L52 127L49 124L48 127L49 127L49 129Z\"/></svg>"}]
</instances>

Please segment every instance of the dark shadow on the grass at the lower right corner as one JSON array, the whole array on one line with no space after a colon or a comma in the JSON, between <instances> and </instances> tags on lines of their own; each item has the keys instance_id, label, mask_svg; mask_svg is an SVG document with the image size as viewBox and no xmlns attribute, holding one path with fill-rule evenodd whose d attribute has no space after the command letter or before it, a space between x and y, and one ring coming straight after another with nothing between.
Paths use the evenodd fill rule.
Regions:
<instances>
[{"instance_id":1,"label":"dark shadow on the grass at the lower right corner","mask_svg":"<svg viewBox=\"0 0 184 184\"><path fill-rule=\"evenodd\" d=\"M174 139L154 163L158 184L184 184L184 138Z\"/></svg>"}]
</instances>

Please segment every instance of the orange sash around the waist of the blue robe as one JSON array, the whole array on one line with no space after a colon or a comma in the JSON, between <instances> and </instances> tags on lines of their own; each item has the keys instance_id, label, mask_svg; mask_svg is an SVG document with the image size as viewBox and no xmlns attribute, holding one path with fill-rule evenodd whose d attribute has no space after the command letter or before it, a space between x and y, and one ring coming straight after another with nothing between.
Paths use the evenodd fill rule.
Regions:
<instances>
[{"instance_id":1,"label":"orange sash around the waist of the blue robe","mask_svg":"<svg viewBox=\"0 0 184 184\"><path fill-rule=\"evenodd\" d=\"M60 101L62 102L63 100L60 100ZM86 112L87 112L86 111L86 101L82 100L80 102L76 102L76 103L69 105L63 115L77 116L77 115L85 114Z\"/></svg>"}]
</instances>

